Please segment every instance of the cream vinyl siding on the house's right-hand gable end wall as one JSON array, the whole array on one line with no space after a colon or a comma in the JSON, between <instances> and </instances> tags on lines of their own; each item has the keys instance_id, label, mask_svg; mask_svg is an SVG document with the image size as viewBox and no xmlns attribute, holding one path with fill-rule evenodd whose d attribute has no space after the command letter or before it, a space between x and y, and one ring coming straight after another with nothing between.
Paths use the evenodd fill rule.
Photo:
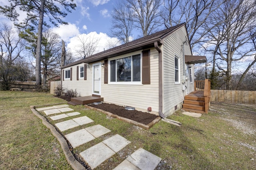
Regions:
<instances>
[{"instance_id":1,"label":"cream vinyl siding on the house's right-hand gable end wall","mask_svg":"<svg viewBox=\"0 0 256 170\"><path fill-rule=\"evenodd\" d=\"M177 105L180 109L186 91L182 91L183 54L182 43L187 41L186 29L182 27L164 40L163 47L163 113L166 116L174 113ZM184 45L184 54L192 55L189 44ZM180 83L175 84L174 56L180 58Z\"/></svg>"}]
</instances>

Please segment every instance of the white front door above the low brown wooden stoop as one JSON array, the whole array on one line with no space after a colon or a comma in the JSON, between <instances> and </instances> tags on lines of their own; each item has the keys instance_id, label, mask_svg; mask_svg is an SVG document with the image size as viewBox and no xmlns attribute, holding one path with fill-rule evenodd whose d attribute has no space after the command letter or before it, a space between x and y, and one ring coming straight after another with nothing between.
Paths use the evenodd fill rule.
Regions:
<instances>
[{"instance_id":1,"label":"white front door above the low brown wooden stoop","mask_svg":"<svg viewBox=\"0 0 256 170\"><path fill-rule=\"evenodd\" d=\"M100 95L101 88L101 63L92 64L92 94Z\"/></svg>"}]
</instances>

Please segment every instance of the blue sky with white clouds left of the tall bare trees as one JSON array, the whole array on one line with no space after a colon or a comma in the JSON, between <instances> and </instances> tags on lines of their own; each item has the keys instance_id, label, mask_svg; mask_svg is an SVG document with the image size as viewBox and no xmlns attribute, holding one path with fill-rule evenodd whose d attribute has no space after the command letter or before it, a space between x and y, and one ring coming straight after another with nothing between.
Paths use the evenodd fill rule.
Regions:
<instances>
[{"instance_id":1,"label":"blue sky with white clouds left of the tall bare trees","mask_svg":"<svg viewBox=\"0 0 256 170\"><path fill-rule=\"evenodd\" d=\"M108 37L111 28L111 11L118 0L74 0L77 7L68 13L64 21L68 25L51 27L54 32L58 33L66 42L66 46L71 49L72 53L78 45L77 37L84 36L88 38L100 39L96 52L109 49L109 42L117 42L116 38ZM8 5L7 0L0 0L1 6ZM60 7L61 8L61 7ZM64 9L63 9L64 10ZM19 21L26 17L26 12L18 11ZM47 21L47 18L44 18ZM0 15L0 22L12 23L4 15ZM76 54L75 54L76 55Z\"/></svg>"}]
</instances>

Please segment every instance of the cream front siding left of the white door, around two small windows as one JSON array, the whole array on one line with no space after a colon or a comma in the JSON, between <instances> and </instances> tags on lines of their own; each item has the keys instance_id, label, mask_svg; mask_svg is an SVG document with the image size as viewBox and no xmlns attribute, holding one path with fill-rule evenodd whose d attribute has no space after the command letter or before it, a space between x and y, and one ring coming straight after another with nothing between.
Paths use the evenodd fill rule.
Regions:
<instances>
[{"instance_id":1,"label":"cream front siding left of the white door, around two small windows","mask_svg":"<svg viewBox=\"0 0 256 170\"><path fill-rule=\"evenodd\" d=\"M92 95L92 64L89 64L89 66L87 66L87 80L84 80L84 78L82 79L80 78L79 80L76 80L76 78L74 78L76 77L77 66L84 66L84 64L72 66L73 80L72 81L64 80L62 82L62 87L68 90L76 89L76 91L78 92L78 96L91 96ZM68 67L68 68L71 68L71 67ZM65 68L65 70L68 68Z\"/></svg>"}]
</instances>

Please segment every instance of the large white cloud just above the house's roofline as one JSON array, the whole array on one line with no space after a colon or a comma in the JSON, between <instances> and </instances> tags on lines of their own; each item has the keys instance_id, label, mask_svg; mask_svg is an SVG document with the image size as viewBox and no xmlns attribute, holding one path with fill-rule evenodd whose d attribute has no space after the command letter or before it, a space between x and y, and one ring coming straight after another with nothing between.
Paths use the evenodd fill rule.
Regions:
<instances>
[{"instance_id":1,"label":"large white cloud just above the house's roofline","mask_svg":"<svg viewBox=\"0 0 256 170\"><path fill-rule=\"evenodd\" d=\"M72 37L70 39L70 43L68 43L68 45L67 45L67 47L72 51L72 54L73 54L74 57L80 57L80 55L78 55L76 53L77 47L81 44L81 42L78 40L78 36L79 37L84 37L84 39L87 39L87 40L99 39L99 42L98 42L97 48L95 50L95 53L99 53L101 51L112 48L111 47L112 44L120 45L118 43L118 39L108 37L108 35L106 33L96 33L94 31L94 32L90 32L88 34L79 34L75 37Z\"/></svg>"}]
</instances>

